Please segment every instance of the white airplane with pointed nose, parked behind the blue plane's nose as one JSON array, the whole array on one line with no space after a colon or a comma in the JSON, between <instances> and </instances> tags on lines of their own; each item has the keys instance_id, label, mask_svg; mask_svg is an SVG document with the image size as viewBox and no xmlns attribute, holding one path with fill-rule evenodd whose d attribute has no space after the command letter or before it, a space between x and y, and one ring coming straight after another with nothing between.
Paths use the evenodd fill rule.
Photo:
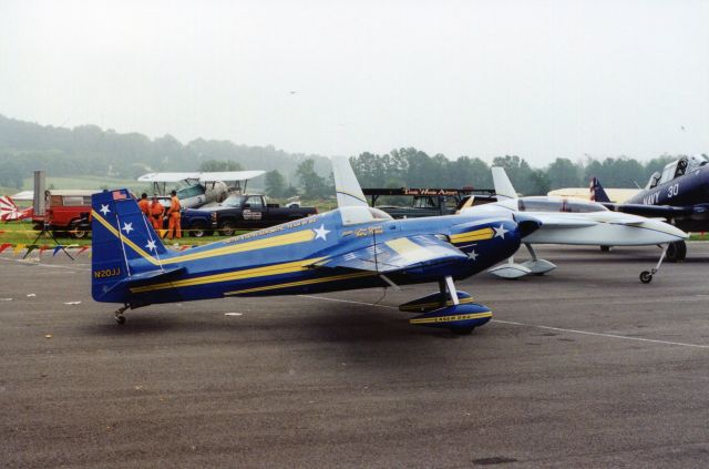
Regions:
<instances>
[{"instance_id":1,"label":"white airplane with pointed nose, parked behind the blue plane's nose","mask_svg":"<svg viewBox=\"0 0 709 469\"><path fill-rule=\"evenodd\" d=\"M515 264L510 262L491 268L489 272L502 278L517 278L524 275L543 275L556 268L556 265L538 258L533 244L571 244L595 246L649 246L658 245L662 249L657 265L640 273L640 282L647 284L659 269L667 246L689 236L681 230L660 220L610 212L602 204L582 200L568 200L549 196L517 197L505 170L492 169L497 202L463 207L461 213L497 213L501 208L512 214L524 212L542 222L542 227L523 238L532 255L532 261Z\"/></svg>"}]
</instances>

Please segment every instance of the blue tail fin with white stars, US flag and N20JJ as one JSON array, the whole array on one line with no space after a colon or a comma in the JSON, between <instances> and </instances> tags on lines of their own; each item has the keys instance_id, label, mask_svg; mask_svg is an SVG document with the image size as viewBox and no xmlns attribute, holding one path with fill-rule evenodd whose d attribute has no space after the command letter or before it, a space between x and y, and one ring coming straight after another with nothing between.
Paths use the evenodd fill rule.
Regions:
<instances>
[{"instance_id":1,"label":"blue tail fin with white stars, US flag and N20JJ","mask_svg":"<svg viewBox=\"0 0 709 469\"><path fill-rule=\"evenodd\" d=\"M125 303L131 277L161 272L171 254L125 190L91 197L91 293L96 302Z\"/></svg>"}]
</instances>

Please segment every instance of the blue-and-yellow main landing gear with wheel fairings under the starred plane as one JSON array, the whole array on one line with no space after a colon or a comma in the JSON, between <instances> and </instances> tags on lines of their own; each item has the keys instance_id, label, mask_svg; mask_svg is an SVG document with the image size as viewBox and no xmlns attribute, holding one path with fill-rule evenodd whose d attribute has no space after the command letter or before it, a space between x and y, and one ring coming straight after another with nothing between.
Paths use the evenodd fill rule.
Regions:
<instances>
[{"instance_id":1,"label":"blue-and-yellow main landing gear with wheel fairings under the starred plane","mask_svg":"<svg viewBox=\"0 0 709 469\"><path fill-rule=\"evenodd\" d=\"M440 281L439 287L439 293L399 306L402 312L423 313L409 319L409 324L467 335L492 318L492 312L486 306L473 303L472 296L455 289L453 277L446 276Z\"/></svg>"}]
</instances>

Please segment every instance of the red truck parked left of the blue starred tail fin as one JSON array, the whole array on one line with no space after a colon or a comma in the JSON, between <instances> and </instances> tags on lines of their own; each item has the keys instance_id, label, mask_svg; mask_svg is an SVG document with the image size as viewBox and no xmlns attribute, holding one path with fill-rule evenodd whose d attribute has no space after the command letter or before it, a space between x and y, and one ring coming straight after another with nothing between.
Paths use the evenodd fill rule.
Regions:
<instances>
[{"instance_id":1,"label":"red truck parked left of the blue starred tail fin","mask_svg":"<svg viewBox=\"0 0 709 469\"><path fill-rule=\"evenodd\" d=\"M91 233L91 195L101 191L65 190L44 192L44 216L33 215L34 230L52 231L54 235L69 233L84 238Z\"/></svg>"}]
</instances>

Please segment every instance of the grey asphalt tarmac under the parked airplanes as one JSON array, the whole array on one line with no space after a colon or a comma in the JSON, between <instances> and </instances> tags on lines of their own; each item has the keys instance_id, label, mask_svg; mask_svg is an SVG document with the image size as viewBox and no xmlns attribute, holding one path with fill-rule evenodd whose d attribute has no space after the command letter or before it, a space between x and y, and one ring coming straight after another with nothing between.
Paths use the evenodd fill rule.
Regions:
<instances>
[{"instance_id":1,"label":"grey asphalt tarmac under the parked airplanes","mask_svg":"<svg viewBox=\"0 0 709 469\"><path fill-rule=\"evenodd\" d=\"M119 326L85 255L6 252L0 467L709 467L709 243L649 285L657 248L540 254L558 268L459 283L495 314L461 337L397 310L434 285Z\"/></svg>"}]
</instances>

